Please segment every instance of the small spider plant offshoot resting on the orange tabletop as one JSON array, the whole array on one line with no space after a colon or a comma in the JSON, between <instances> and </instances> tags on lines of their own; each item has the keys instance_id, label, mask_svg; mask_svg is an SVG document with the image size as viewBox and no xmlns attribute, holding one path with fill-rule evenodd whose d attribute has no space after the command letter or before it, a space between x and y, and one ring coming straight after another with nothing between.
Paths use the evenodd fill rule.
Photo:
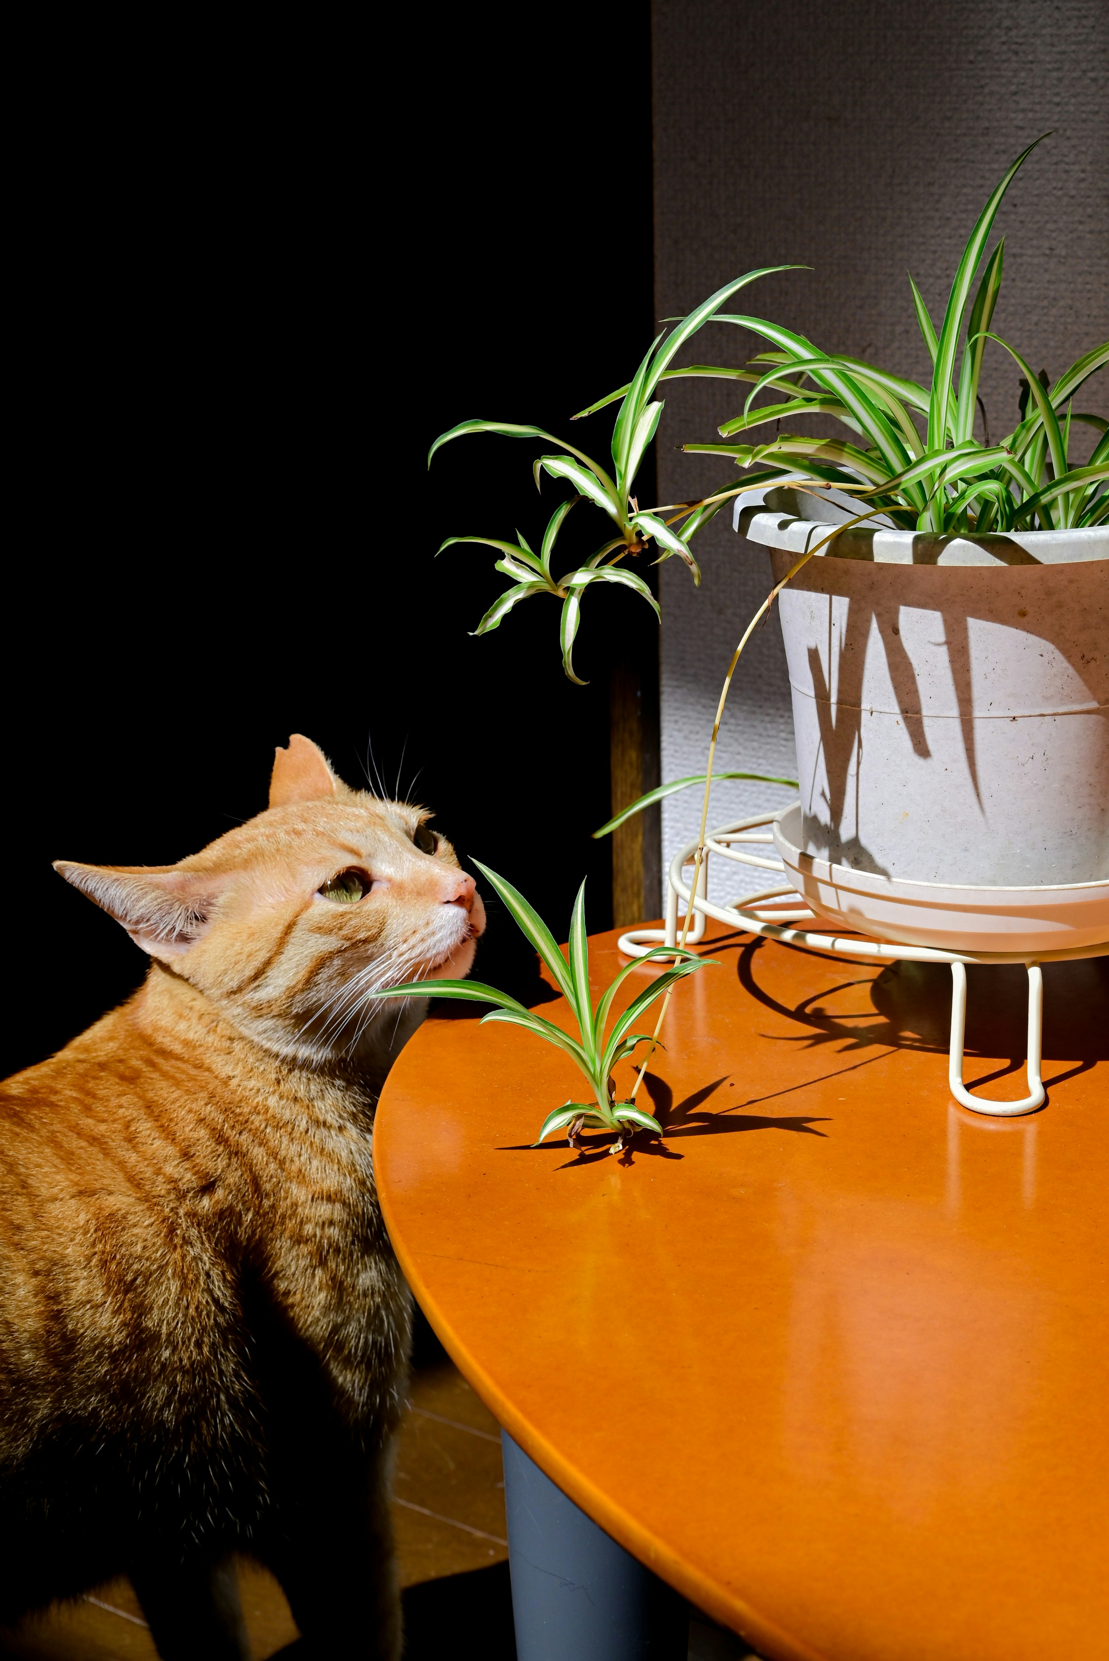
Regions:
<instances>
[{"instance_id":1,"label":"small spider plant offshoot resting on the orange tabletop","mask_svg":"<svg viewBox=\"0 0 1109 1661\"><path fill-rule=\"evenodd\" d=\"M588 1080L591 1100L564 1101L561 1108L554 1108L553 1113L548 1113L540 1128L538 1141L533 1144L536 1148L545 1136L559 1129L566 1131L568 1141L573 1148L578 1143L583 1126L599 1126L606 1131L616 1131L616 1141L609 1148L609 1153L619 1153L624 1146L624 1139L638 1129L656 1131L661 1136L662 1126L656 1118L636 1108L634 1101L618 1101L616 1085L613 1083L613 1068L619 1061L626 1060L638 1045L651 1041L657 1043L657 1038L651 1033L633 1031L636 1022L647 1008L651 1008L656 998L664 997L677 980L684 975L696 973L696 970L704 968L706 963L712 960L696 957L692 952L676 950L674 947L656 947L656 950L649 952L646 958L641 957L628 963L594 1007L589 992L589 943L586 938L584 882L578 889L578 899L574 900L574 910L569 922L569 958L566 958L563 957L554 935L546 927L540 914L528 905L523 894L520 894L518 889L513 889L511 882L498 877L495 870L490 870L478 860L475 860L475 865L493 884L493 889L505 902L508 912L554 977L554 985L566 998L569 1012L574 1017L578 1038L571 1038L569 1033L564 1033L561 1026L554 1025L554 1022L548 1022L533 1010L525 1008L523 1003L508 997L506 992L498 992L496 987L485 987L478 980L415 980L403 987L385 987L377 993L377 997L467 998L471 1003L495 1003L496 1008L481 1018L483 1023L508 1022L511 1026L523 1026L525 1031L535 1033L536 1038L545 1038L548 1043L563 1050ZM677 962L676 967L669 968L664 975L659 975L659 978L652 982L646 992L641 992L638 998L633 998L624 1013L616 1018L613 1030L606 1038L604 1030L613 1010L613 998L628 975L652 957L667 957L671 960L679 958L681 962Z\"/></svg>"}]
</instances>

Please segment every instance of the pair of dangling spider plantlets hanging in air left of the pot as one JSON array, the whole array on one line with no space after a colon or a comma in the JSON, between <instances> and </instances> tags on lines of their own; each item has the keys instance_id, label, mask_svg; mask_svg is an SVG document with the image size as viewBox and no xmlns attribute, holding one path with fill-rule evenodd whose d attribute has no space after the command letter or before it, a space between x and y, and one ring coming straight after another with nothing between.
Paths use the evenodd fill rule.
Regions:
<instances>
[{"instance_id":1,"label":"pair of dangling spider plantlets hanging in air left of the pot","mask_svg":"<svg viewBox=\"0 0 1109 1661\"><path fill-rule=\"evenodd\" d=\"M689 341L692 334L701 329L709 317L714 316L719 306L722 306L732 294L754 282L757 277L767 276L770 271L790 271L792 266L767 266L762 271L749 271L744 277L737 277L734 282L727 282L716 294L709 296L696 311L687 317L677 321L677 327L662 341L662 336L656 336L651 350L636 370L634 380L619 392L613 394L611 399L603 399L601 404L614 402L618 397L623 399L619 410L616 414L616 425L613 429L613 473L578 450L573 443L566 443L563 439L554 439L550 432L541 427L525 427L515 422L496 422L496 420L463 420L458 427L452 427L450 432L440 434L432 448L428 450L428 467L437 450L452 439L462 439L465 434L475 432L496 432L508 439L541 439L553 443L561 452L559 455L540 455L533 465L536 490L541 485L541 473L550 473L551 478L564 480L574 492L568 502L559 503L559 507L551 515L546 530L543 532L543 540L540 543L540 551L536 553L525 537L516 532L516 541L503 541L498 537L448 537L445 543L438 548L450 548L455 543L481 543L500 551L500 558L495 563L503 576L513 580L513 586L506 588L498 600L490 606L481 621L478 623L475 635L488 635L490 630L500 628L501 621L508 613L520 605L521 600L530 600L535 595L554 595L556 600L563 603L561 615L561 649L563 649L563 669L578 686L584 683L574 674L573 666L573 646L578 635L578 625L581 621L581 598L591 583L619 583L624 588L631 588L642 600L652 606L656 616L659 616L659 606L642 581L634 571L629 571L621 561L629 555L636 558L654 541L657 550L656 565L662 560L669 560L677 555L689 566L694 583L701 583L701 571L697 561L689 550L691 535L707 520L699 518L697 513L691 513L692 508L701 507L701 503L682 503L682 512L677 518L686 518L682 535L671 530L671 523L659 518L659 513L671 512L669 508L652 508L646 510L639 507L634 495L636 475L639 465L647 450L647 445L654 439L656 429L659 425L659 417L662 414L662 400L656 399L654 394L661 380L671 379L667 365L672 362L674 355ZM659 344L662 342L662 344ZM694 374L696 370L681 370L681 374ZM706 370L707 374L717 374L717 370ZM721 374L732 374L730 370L719 370ZM599 409L601 405L594 405ZM581 415L588 415L591 410L581 410ZM578 420L579 417L574 417ZM774 477L774 470L767 473ZM589 555L584 565L576 570L566 571L563 576L554 576L551 571L551 556L554 553L554 543L558 533L561 532L566 515L576 502L589 502L594 508L599 508L609 520L608 537L596 550ZM712 517L711 513L707 515Z\"/></svg>"}]
</instances>

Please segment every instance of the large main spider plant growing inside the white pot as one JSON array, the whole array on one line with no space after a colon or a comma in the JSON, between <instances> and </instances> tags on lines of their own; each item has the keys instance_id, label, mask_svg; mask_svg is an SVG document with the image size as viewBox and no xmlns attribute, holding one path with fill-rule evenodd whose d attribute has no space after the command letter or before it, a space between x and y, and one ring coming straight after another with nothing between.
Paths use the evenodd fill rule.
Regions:
<instances>
[{"instance_id":1,"label":"large main spider plant growing inside the white pot","mask_svg":"<svg viewBox=\"0 0 1109 1661\"><path fill-rule=\"evenodd\" d=\"M989 327L1001 289L1004 238L986 259L973 292L1001 199L1039 143L1043 140L1021 151L983 208L958 264L938 332L910 276L916 322L933 364L930 387L857 357L828 355L804 336L764 317L717 311L714 322L737 324L772 345L772 350L752 359L747 372L737 374L737 379L752 382L750 394L742 414L719 429L721 437L732 439L769 424L774 424L775 435L769 443L686 443L682 448L729 455L740 467L772 465L813 483L845 487L862 493L906 530L981 535L1104 523L1109 518L1109 493L1104 488L1109 478L1109 424L1101 415L1074 410L1072 399L1082 382L1109 362L1109 342L1079 357L1054 385L1046 385L1046 377L1036 377L1021 354ZM956 379L955 360L963 334ZM1021 369L1021 385L1031 392L1031 404L1026 405L1028 394L1023 399L1019 425L999 443L989 443L978 397L986 341L1009 352ZM762 369L765 364L770 367ZM697 365L687 372L707 370ZM777 392L779 400L754 407L764 390ZM976 407L983 407L984 443L975 439ZM807 415L832 415L857 440L780 430L782 422ZM1099 432L1086 467L1069 462L1072 422Z\"/></svg>"}]
</instances>

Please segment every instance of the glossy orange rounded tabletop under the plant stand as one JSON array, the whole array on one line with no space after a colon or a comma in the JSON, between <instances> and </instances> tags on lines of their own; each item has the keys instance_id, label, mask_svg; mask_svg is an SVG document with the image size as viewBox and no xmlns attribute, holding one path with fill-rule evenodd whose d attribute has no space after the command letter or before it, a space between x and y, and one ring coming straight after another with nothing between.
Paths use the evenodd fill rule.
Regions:
<instances>
[{"instance_id":1,"label":"glossy orange rounded tabletop under the plant stand","mask_svg":"<svg viewBox=\"0 0 1109 1661\"><path fill-rule=\"evenodd\" d=\"M528 1033L410 1041L377 1179L433 1327L767 1656L1107 1656L1109 960L1044 968L1048 1103L988 1120L948 1095L946 967L701 950L647 1075L666 1139L626 1156L528 1146L578 1093ZM598 937L594 995L619 963ZM965 1078L1021 1096L1024 972L968 980Z\"/></svg>"}]
</instances>

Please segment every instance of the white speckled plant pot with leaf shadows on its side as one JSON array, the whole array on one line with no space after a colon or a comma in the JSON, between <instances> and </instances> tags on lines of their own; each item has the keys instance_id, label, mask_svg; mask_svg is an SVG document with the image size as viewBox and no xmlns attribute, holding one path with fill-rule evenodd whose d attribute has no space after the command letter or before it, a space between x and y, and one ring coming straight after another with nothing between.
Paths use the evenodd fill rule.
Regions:
<instances>
[{"instance_id":1,"label":"white speckled plant pot with leaf shadows on its side","mask_svg":"<svg viewBox=\"0 0 1109 1661\"><path fill-rule=\"evenodd\" d=\"M735 528L777 581L848 512L767 490ZM855 528L779 606L804 855L900 882L1109 879L1107 530Z\"/></svg>"}]
</instances>

